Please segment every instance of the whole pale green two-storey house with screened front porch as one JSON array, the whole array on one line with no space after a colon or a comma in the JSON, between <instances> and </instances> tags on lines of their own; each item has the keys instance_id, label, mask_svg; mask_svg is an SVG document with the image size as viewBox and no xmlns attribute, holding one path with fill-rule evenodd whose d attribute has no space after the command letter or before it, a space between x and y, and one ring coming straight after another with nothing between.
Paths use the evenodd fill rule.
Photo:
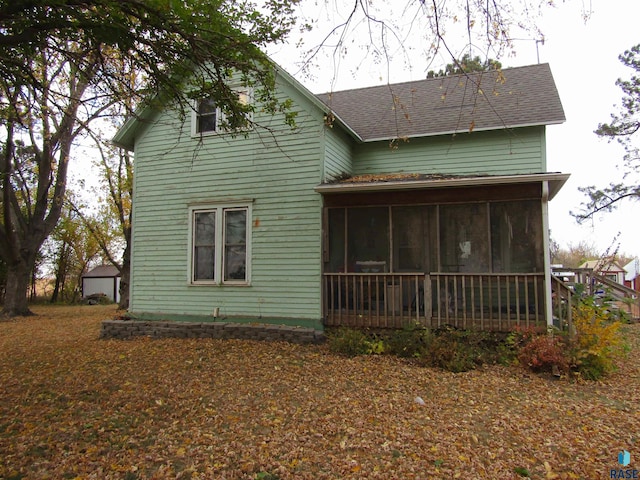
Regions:
<instances>
[{"instance_id":1,"label":"whole pale green two-storey house with screened front porch","mask_svg":"<svg viewBox=\"0 0 640 480\"><path fill-rule=\"evenodd\" d=\"M314 95L232 136L201 101L132 119L130 314L152 321L507 330L552 322L548 65ZM251 92L238 90L247 101Z\"/></svg>"}]
</instances>

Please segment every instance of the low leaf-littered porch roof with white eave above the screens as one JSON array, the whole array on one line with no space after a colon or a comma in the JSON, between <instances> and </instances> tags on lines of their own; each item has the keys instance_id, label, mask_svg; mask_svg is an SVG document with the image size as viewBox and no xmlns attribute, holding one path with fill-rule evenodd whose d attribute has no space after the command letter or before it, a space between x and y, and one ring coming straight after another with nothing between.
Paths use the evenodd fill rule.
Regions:
<instances>
[{"instance_id":1,"label":"low leaf-littered porch roof with white eave above the screens","mask_svg":"<svg viewBox=\"0 0 640 480\"><path fill-rule=\"evenodd\" d=\"M358 175L333 183L323 183L315 187L315 191L327 195L332 193L425 190L431 188L463 188L548 182L549 200L551 200L560 191L569 176L567 173L521 175L373 174Z\"/></svg>"}]
</instances>

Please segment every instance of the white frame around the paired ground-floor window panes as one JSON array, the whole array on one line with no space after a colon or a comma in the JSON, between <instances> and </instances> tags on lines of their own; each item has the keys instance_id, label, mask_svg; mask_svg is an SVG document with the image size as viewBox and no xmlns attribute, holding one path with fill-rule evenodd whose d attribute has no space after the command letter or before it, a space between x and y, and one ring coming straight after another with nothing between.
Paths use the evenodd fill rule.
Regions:
<instances>
[{"instance_id":1,"label":"white frame around the paired ground-floor window panes","mask_svg":"<svg viewBox=\"0 0 640 480\"><path fill-rule=\"evenodd\" d=\"M246 251L245 251L245 278L242 280L225 280L225 213L230 211L246 211ZM197 213L215 212L215 238L214 238L214 258L215 265L213 279L195 279L195 221ZM188 255L188 282L190 285L240 285L251 284L251 226L252 209L248 203L232 204L207 204L194 205L189 207L189 255Z\"/></svg>"}]
</instances>

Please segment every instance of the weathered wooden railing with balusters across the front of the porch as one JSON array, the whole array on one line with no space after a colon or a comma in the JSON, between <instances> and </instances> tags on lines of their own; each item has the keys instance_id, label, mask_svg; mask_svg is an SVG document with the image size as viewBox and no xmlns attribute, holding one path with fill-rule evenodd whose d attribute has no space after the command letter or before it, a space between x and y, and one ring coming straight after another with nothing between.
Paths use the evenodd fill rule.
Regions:
<instances>
[{"instance_id":1,"label":"weathered wooden railing with balusters across the front of the porch","mask_svg":"<svg viewBox=\"0 0 640 480\"><path fill-rule=\"evenodd\" d=\"M326 273L328 326L545 327L544 274Z\"/></svg>"}]
</instances>

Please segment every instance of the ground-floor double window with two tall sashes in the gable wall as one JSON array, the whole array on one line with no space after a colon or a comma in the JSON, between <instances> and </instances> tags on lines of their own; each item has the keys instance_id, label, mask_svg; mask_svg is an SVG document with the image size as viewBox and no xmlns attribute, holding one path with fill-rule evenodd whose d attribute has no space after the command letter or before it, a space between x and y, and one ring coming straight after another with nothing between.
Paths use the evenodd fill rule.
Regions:
<instances>
[{"instance_id":1,"label":"ground-floor double window with two tall sashes in the gable wall","mask_svg":"<svg viewBox=\"0 0 640 480\"><path fill-rule=\"evenodd\" d=\"M190 283L249 283L250 208L190 208Z\"/></svg>"}]
</instances>

